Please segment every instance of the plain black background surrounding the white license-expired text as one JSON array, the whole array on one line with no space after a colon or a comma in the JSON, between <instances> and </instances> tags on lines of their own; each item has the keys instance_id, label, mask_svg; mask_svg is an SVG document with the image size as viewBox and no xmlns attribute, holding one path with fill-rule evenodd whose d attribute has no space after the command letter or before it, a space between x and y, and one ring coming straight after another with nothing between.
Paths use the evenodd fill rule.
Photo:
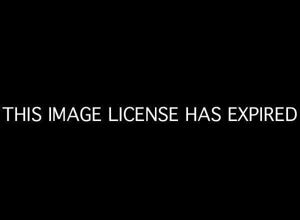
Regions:
<instances>
[{"instance_id":1,"label":"plain black background surrounding the white license-expired text","mask_svg":"<svg viewBox=\"0 0 300 220\"><path fill-rule=\"evenodd\" d=\"M123 6L9 10L1 107L179 106L180 122L2 120L6 207L286 214L297 194L298 119L230 123L226 109L298 110L296 14L262 5ZM185 123L185 106L224 113L219 123Z\"/></svg>"}]
</instances>

